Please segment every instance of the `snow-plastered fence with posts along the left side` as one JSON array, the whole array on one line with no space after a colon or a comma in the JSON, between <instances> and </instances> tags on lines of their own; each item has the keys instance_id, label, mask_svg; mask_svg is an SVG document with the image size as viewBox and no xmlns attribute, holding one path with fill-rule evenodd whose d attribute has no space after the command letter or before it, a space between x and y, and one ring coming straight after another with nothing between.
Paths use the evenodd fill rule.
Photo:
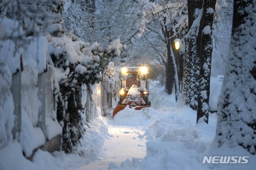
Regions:
<instances>
[{"instance_id":1,"label":"snow-plastered fence with posts along the left side","mask_svg":"<svg viewBox=\"0 0 256 170\"><path fill-rule=\"evenodd\" d=\"M5 35L15 34L16 27L10 19L0 23ZM53 69L48 67L47 51L44 36L26 38L22 48L14 40L0 39L0 149L15 140L31 157L62 134L53 110Z\"/></svg>"}]
</instances>

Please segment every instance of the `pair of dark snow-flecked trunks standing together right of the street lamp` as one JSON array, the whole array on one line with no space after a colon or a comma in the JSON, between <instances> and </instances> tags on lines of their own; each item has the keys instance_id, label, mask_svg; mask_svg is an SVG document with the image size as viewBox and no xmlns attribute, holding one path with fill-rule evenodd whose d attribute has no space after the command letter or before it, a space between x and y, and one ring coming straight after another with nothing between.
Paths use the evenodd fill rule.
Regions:
<instances>
[{"instance_id":1,"label":"pair of dark snow-flecked trunks standing together right of the street lamp","mask_svg":"<svg viewBox=\"0 0 256 170\"><path fill-rule=\"evenodd\" d=\"M189 30L182 80L182 103L198 111L197 122L200 118L208 122L215 4L215 0L188 0Z\"/></svg>"}]
</instances>

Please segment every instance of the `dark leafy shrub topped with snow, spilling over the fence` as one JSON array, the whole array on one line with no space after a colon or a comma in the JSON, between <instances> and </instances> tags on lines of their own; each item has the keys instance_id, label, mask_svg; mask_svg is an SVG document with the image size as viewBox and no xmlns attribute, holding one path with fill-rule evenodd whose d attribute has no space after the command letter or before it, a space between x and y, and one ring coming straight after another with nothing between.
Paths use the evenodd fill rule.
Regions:
<instances>
[{"instance_id":1,"label":"dark leafy shrub topped with snow, spilling over the fence","mask_svg":"<svg viewBox=\"0 0 256 170\"><path fill-rule=\"evenodd\" d=\"M62 1L55 13L62 13ZM62 19L56 20L47 35L49 62L55 67L54 99L57 119L63 127L62 149L69 153L76 149L84 131L81 121L81 86L89 91L91 85L102 80L102 72L111 58L125 49L120 40L114 40L105 50L95 42L90 45L73 32L65 33Z\"/></svg>"}]
</instances>

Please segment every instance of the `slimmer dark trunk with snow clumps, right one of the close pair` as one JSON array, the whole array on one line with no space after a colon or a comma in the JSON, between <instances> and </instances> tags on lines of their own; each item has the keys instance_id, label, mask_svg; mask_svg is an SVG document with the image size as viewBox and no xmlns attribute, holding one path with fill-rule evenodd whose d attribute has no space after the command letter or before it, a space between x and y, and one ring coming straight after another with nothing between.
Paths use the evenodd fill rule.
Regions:
<instances>
[{"instance_id":1,"label":"slimmer dark trunk with snow clumps, right one of the close pair","mask_svg":"<svg viewBox=\"0 0 256 170\"><path fill-rule=\"evenodd\" d=\"M197 106L197 123L209 117L210 71L212 61L212 24L216 0L204 0L203 13L200 22L199 35L201 35L199 90Z\"/></svg>"}]
</instances>

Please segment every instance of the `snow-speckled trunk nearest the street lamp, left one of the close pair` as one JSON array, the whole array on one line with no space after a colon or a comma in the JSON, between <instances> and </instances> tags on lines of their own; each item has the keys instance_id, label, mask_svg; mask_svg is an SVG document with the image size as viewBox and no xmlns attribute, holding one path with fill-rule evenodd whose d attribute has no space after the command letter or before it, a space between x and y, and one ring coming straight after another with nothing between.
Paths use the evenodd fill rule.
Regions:
<instances>
[{"instance_id":1,"label":"snow-speckled trunk nearest the street lamp, left one of the close pair","mask_svg":"<svg viewBox=\"0 0 256 170\"><path fill-rule=\"evenodd\" d=\"M199 24L202 17L203 0L188 0L188 34L186 41L186 52L182 79L182 103L197 110L198 76L199 76L199 55L198 35Z\"/></svg>"}]
</instances>

